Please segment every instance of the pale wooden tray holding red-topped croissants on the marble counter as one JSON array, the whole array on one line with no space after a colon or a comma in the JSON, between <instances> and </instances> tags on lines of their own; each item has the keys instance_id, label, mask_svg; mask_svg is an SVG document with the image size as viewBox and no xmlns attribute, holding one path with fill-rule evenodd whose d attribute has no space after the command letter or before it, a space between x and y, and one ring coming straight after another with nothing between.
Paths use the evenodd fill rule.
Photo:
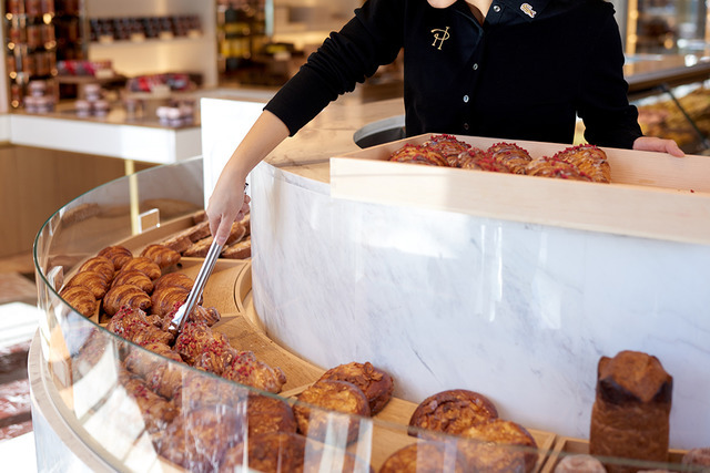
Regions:
<instances>
[{"instance_id":1,"label":"pale wooden tray holding red-topped croissants on the marble counter","mask_svg":"<svg viewBox=\"0 0 710 473\"><path fill-rule=\"evenodd\" d=\"M611 184L388 161L400 140L331 158L331 195L479 217L710 245L710 157L604 148ZM457 136L487 148L500 140ZM515 142L532 157L566 145Z\"/></svg>"}]
</instances>

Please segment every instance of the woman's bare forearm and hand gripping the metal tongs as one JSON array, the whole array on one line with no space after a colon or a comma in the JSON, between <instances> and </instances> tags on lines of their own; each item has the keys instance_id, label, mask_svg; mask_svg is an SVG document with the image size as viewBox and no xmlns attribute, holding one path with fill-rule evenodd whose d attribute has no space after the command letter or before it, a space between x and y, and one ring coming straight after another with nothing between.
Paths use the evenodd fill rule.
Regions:
<instances>
[{"instance_id":1,"label":"woman's bare forearm and hand gripping the metal tongs","mask_svg":"<svg viewBox=\"0 0 710 473\"><path fill-rule=\"evenodd\" d=\"M222 169L207 204L210 230L224 245L232 224L248 212L244 183L248 173L288 136L286 125L273 113L262 112Z\"/></svg>"}]
</instances>

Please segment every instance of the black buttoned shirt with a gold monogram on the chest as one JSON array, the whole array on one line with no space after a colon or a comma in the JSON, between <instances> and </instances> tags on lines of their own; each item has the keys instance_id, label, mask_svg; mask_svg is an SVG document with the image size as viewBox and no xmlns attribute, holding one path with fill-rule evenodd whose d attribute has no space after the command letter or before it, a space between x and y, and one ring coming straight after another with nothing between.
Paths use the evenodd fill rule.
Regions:
<instances>
[{"instance_id":1,"label":"black buttoned shirt with a gold monogram on the chest","mask_svg":"<svg viewBox=\"0 0 710 473\"><path fill-rule=\"evenodd\" d=\"M630 148L613 7L602 0L494 0L484 24L458 0L367 0L265 106L295 134L404 48L406 133L452 133Z\"/></svg>"}]
</instances>

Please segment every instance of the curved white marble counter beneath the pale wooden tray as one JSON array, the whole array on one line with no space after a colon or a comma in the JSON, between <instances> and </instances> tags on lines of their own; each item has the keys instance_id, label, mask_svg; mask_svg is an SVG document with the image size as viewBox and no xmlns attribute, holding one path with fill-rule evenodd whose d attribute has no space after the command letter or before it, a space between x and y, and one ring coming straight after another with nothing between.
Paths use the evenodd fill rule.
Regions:
<instances>
[{"instance_id":1,"label":"curved white marble counter beneath the pale wooden tray","mask_svg":"<svg viewBox=\"0 0 710 473\"><path fill-rule=\"evenodd\" d=\"M270 337L321 367L369 360L414 402L471 389L501 417L584 439L599 358L645 351L674 378L671 446L710 444L710 246L333 197L328 158L402 111L336 102L250 176ZM214 178L258 110L202 113Z\"/></svg>"}]
</instances>

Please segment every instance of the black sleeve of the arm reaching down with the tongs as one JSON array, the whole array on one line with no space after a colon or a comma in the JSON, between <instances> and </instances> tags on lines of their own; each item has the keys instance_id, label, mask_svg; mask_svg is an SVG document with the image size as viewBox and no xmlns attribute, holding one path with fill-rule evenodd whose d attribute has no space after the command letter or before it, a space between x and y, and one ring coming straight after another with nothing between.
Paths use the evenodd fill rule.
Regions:
<instances>
[{"instance_id":1,"label":"black sleeve of the arm reaching down with the tongs","mask_svg":"<svg viewBox=\"0 0 710 473\"><path fill-rule=\"evenodd\" d=\"M406 0L368 0L339 32L333 32L264 110L293 136L338 95L355 90L402 49Z\"/></svg>"}]
</instances>

